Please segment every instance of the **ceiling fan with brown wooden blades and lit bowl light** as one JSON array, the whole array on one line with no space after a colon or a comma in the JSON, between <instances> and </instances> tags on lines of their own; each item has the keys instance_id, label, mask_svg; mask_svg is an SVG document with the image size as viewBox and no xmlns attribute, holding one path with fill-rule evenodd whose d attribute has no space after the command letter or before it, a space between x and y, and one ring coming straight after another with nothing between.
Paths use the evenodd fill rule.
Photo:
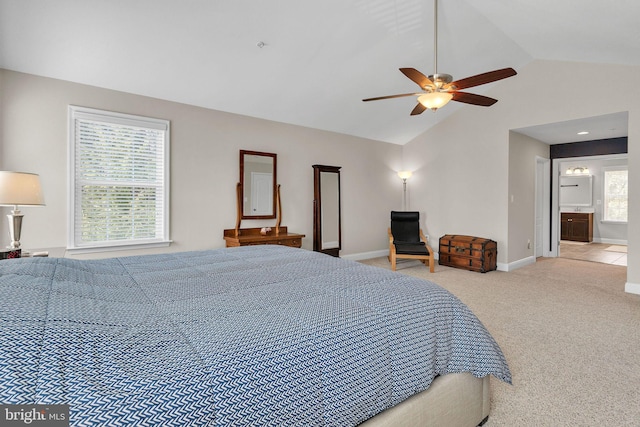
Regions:
<instances>
[{"instance_id":1,"label":"ceiling fan with brown wooden blades and lit bowl light","mask_svg":"<svg viewBox=\"0 0 640 427\"><path fill-rule=\"evenodd\" d=\"M489 107L496 102L497 99L488 96L476 95L474 93L460 92L461 89L467 89L479 86L497 80L506 79L515 76L516 70L513 68L502 68L500 70L489 71L475 76L453 81L453 77L449 74L438 73L438 0L433 2L433 21L434 21L434 72L430 76L425 76L415 68L400 68L400 71L413 80L422 92L402 93L398 95L378 96L375 98L363 99L363 101L377 101L380 99L401 98L404 96L417 96L418 105L415 106L411 115L421 114L424 110L437 110L446 105L449 101L464 102L465 104L480 105Z\"/></svg>"}]
</instances>

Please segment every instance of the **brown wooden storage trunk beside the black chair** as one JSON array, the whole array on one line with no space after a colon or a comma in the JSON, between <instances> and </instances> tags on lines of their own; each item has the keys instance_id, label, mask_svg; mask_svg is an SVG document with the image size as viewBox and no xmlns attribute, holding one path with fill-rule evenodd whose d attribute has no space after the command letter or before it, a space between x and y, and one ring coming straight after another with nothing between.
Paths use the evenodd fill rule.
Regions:
<instances>
[{"instance_id":1,"label":"brown wooden storage trunk beside the black chair","mask_svg":"<svg viewBox=\"0 0 640 427\"><path fill-rule=\"evenodd\" d=\"M439 264L486 273L496 269L498 244L490 239L446 234L440 238Z\"/></svg>"}]
</instances>

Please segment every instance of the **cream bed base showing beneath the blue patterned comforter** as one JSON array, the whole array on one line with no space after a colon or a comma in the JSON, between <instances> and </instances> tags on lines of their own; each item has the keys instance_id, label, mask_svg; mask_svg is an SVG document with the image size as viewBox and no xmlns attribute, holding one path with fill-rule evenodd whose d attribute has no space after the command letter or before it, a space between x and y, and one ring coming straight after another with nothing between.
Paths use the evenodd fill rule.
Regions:
<instances>
[{"instance_id":1,"label":"cream bed base showing beneath the blue patterned comforter","mask_svg":"<svg viewBox=\"0 0 640 427\"><path fill-rule=\"evenodd\" d=\"M437 377L431 386L360 424L360 427L477 426L489 416L489 376Z\"/></svg>"}]
</instances>

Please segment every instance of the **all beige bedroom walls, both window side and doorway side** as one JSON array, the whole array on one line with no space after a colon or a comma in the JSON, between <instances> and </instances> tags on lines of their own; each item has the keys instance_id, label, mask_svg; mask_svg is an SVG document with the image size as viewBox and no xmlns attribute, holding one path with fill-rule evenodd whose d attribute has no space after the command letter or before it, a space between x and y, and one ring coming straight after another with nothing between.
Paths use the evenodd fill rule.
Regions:
<instances>
[{"instance_id":1,"label":"all beige bedroom walls, both window side and doorway side","mask_svg":"<svg viewBox=\"0 0 640 427\"><path fill-rule=\"evenodd\" d=\"M532 167L534 161L510 160L510 130L627 111L628 250L633 259L640 254L640 197L634 197L634 189L640 188L640 86L607 90L594 82L597 76L634 81L640 67L534 61L518 73L486 92L500 100L496 105L461 108L400 147L2 71L0 167L39 172L43 178L47 207L25 208L25 246L64 246L67 105L165 118L172 124L175 244L170 250L223 246L222 230L231 228L235 218L238 150L251 149L278 154L283 224L308 236L303 242L307 249L312 231L311 165L342 166L345 255L384 251L389 211L402 203L402 185L395 173L408 169L414 172L407 184L409 208L421 212L422 227L434 247L447 233L489 237L498 242L499 265L508 266L528 255L516 250L515 240L522 236L514 230L526 233L532 227L530 216L512 214L509 185L530 185L512 175ZM4 239L0 244L6 244L6 236L0 236ZM629 263L628 282L640 292L637 263Z\"/></svg>"}]
</instances>

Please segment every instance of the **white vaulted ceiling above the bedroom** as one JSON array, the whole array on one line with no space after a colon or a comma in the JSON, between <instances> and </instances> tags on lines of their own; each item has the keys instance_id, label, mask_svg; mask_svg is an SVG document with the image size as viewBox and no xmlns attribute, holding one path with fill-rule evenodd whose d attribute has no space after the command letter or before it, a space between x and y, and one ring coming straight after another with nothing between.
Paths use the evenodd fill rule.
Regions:
<instances>
[{"instance_id":1,"label":"white vaulted ceiling above the bedroom","mask_svg":"<svg viewBox=\"0 0 640 427\"><path fill-rule=\"evenodd\" d=\"M635 0L440 0L438 15L454 79L534 59L640 65ZM432 0L0 0L0 67L404 144L486 108L362 102L418 89L398 68L432 74L433 27Z\"/></svg>"}]
</instances>

